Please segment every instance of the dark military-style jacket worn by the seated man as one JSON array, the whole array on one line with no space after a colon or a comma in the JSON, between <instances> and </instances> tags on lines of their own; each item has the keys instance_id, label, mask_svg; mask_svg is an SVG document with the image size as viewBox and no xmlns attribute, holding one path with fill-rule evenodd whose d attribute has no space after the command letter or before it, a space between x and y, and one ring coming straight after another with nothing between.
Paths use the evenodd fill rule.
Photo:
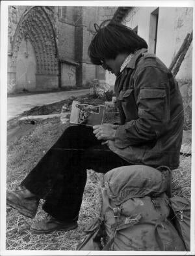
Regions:
<instances>
[{"instance_id":1,"label":"dark military-style jacket worn by the seated man","mask_svg":"<svg viewBox=\"0 0 195 256\"><path fill-rule=\"evenodd\" d=\"M110 150L132 164L177 168L184 116L172 73L142 49L117 76L115 92L121 125Z\"/></svg>"}]
</instances>

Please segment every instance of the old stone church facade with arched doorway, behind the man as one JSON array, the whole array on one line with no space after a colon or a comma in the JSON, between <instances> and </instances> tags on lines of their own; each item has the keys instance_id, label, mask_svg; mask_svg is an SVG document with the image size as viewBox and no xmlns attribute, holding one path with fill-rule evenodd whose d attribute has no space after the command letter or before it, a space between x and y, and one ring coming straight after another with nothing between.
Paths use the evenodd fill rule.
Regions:
<instances>
[{"instance_id":1,"label":"old stone church facade with arched doorway, behind the man","mask_svg":"<svg viewBox=\"0 0 195 256\"><path fill-rule=\"evenodd\" d=\"M94 23L117 7L8 7L8 92L82 87L105 71L90 63Z\"/></svg>"}]
</instances>

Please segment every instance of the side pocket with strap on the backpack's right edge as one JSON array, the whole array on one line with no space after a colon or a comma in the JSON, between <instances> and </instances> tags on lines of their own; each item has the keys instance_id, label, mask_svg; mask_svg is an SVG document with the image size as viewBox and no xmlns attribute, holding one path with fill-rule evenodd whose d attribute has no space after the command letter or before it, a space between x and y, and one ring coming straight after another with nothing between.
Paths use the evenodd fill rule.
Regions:
<instances>
[{"instance_id":1,"label":"side pocket with strap on the backpack's right edge","mask_svg":"<svg viewBox=\"0 0 195 256\"><path fill-rule=\"evenodd\" d=\"M190 251L190 203L183 197L171 197L170 207L174 212L172 221L183 239L187 251Z\"/></svg>"}]
</instances>

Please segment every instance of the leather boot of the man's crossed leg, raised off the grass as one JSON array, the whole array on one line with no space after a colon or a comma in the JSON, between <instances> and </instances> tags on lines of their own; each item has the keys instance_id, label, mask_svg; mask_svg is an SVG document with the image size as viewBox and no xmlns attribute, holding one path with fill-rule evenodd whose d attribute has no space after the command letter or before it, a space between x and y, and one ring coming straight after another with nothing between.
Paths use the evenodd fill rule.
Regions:
<instances>
[{"instance_id":1,"label":"leather boot of the man's crossed leg, raised off the grass","mask_svg":"<svg viewBox=\"0 0 195 256\"><path fill-rule=\"evenodd\" d=\"M19 187L17 191L7 191L6 193L6 204L18 210L23 216L32 219L36 215L39 200L25 187Z\"/></svg>"}]
</instances>

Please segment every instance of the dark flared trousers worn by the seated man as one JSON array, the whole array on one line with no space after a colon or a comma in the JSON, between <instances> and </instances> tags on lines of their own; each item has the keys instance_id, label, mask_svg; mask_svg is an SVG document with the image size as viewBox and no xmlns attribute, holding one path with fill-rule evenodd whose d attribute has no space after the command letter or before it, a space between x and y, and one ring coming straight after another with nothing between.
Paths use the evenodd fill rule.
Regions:
<instances>
[{"instance_id":1,"label":"dark flared trousers worn by the seated man","mask_svg":"<svg viewBox=\"0 0 195 256\"><path fill-rule=\"evenodd\" d=\"M86 184L86 169L108 172L131 165L101 145L92 127L68 127L21 182L45 199L43 209L59 220L77 220Z\"/></svg>"}]
</instances>

